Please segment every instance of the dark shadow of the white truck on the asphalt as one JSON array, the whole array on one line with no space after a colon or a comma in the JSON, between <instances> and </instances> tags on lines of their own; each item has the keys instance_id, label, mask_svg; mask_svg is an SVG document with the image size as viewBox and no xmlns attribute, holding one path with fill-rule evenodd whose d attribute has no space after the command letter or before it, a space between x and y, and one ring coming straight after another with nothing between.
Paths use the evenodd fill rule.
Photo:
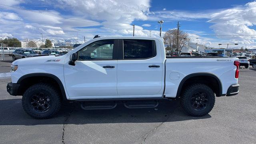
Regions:
<instances>
[{"instance_id":1,"label":"dark shadow of the white truck on the asphalt","mask_svg":"<svg viewBox=\"0 0 256 144\"><path fill-rule=\"evenodd\" d=\"M156 108L128 109L121 103L112 110L82 110L79 104L62 106L53 118L36 120L28 116L21 99L0 100L0 125L42 125L42 124L104 124L104 123L152 123L176 122L211 118L186 115L179 106L179 100L160 102Z\"/></svg>"}]
</instances>

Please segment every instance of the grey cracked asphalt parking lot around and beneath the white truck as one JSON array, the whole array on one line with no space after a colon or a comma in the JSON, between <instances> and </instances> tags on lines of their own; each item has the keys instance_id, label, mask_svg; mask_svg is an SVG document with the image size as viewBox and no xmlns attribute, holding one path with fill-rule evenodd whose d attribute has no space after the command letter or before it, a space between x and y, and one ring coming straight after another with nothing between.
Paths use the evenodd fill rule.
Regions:
<instances>
[{"instance_id":1,"label":"grey cracked asphalt parking lot around and beneath the white truck","mask_svg":"<svg viewBox=\"0 0 256 144\"><path fill-rule=\"evenodd\" d=\"M10 71L0 62L0 72ZM157 108L82 110L65 104L51 119L36 120L22 109L21 96L10 96L0 78L0 143L26 144L255 144L256 68L240 69L240 92L216 98L210 114L187 116L179 100Z\"/></svg>"}]
</instances>

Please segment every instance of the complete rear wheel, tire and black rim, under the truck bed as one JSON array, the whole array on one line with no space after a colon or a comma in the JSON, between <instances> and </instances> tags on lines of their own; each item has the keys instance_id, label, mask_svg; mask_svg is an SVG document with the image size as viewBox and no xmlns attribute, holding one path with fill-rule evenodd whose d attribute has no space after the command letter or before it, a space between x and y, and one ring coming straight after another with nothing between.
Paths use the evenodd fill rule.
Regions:
<instances>
[{"instance_id":1,"label":"complete rear wheel, tire and black rim, under the truck bed","mask_svg":"<svg viewBox=\"0 0 256 144\"><path fill-rule=\"evenodd\" d=\"M188 86L180 97L180 105L191 116L208 114L215 103L212 89L206 84L192 84Z\"/></svg>"}]
</instances>

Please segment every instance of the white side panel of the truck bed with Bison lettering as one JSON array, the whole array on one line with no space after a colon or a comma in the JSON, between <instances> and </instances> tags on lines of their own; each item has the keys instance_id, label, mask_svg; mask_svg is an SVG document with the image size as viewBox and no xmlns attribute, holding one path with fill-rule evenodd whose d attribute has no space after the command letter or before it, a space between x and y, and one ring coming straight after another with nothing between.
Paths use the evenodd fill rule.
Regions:
<instances>
[{"instance_id":1,"label":"white side panel of the truck bed with Bison lettering","mask_svg":"<svg viewBox=\"0 0 256 144\"><path fill-rule=\"evenodd\" d=\"M222 94L226 94L230 85L238 82L235 78L235 60L238 60L238 58L166 56L164 95L166 97L176 97L179 84L186 76L191 74L206 74L218 78L222 84ZM232 76L231 79L230 76Z\"/></svg>"}]
</instances>

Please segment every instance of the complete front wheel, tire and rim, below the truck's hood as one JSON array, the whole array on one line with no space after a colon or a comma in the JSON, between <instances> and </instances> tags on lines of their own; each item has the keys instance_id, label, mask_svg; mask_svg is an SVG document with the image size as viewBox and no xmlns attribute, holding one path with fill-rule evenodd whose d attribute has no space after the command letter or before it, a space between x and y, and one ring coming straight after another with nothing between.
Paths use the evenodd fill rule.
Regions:
<instances>
[{"instance_id":1,"label":"complete front wheel, tire and rim, below the truck's hood","mask_svg":"<svg viewBox=\"0 0 256 144\"><path fill-rule=\"evenodd\" d=\"M24 92L22 106L33 118L50 118L60 110L60 95L50 84L34 84Z\"/></svg>"}]
</instances>

